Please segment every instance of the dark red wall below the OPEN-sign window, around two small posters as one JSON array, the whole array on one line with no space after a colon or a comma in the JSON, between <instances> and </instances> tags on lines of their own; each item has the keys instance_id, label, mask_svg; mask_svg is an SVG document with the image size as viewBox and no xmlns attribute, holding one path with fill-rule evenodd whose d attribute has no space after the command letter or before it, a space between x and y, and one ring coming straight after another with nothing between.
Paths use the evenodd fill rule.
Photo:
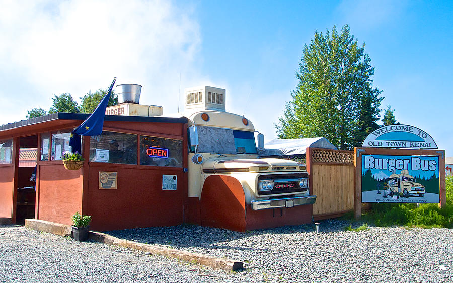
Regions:
<instances>
[{"instance_id":1,"label":"dark red wall below the OPEN-sign window, around two small posters","mask_svg":"<svg viewBox=\"0 0 453 283\"><path fill-rule=\"evenodd\" d=\"M99 189L99 172L118 172L117 189ZM184 222L182 168L90 162L83 213L98 231L171 226ZM176 175L177 189L163 190L162 175Z\"/></svg>"}]
</instances>

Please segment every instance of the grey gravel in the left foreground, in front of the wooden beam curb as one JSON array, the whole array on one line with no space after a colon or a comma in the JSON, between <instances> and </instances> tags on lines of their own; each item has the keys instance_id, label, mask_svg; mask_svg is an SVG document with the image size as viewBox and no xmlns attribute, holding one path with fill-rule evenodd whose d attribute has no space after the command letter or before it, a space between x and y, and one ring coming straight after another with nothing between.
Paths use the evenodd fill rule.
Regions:
<instances>
[{"instance_id":1,"label":"grey gravel in the left foreground, in front of the wooden beam curb","mask_svg":"<svg viewBox=\"0 0 453 283\"><path fill-rule=\"evenodd\" d=\"M223 272L158 255L0 226L0 282L239 282Z\"/></svg>"}]
</instances>

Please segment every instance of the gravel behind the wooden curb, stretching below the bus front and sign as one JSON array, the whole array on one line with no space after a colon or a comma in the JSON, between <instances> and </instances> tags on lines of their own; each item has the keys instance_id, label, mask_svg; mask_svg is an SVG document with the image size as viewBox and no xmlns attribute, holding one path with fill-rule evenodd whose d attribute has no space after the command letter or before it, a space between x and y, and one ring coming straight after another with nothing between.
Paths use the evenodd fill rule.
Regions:
<instances>
[{"instance_id":1,"label":"gravel behind the wooden curb, stretching below the bus front and sign","mask_svg":"<svg viewBox=\"0 0 453 283\"><path fill-rule=\"evenodd\" d=\"M358 225L358 224L356 224ZM244 262L243 281L449 282L453 230L379 228L344 231L326 220L248 233L200 226L107 232L118 238ZM354 225L353 225L354 228Z\"/></svg>"}]
</instances>

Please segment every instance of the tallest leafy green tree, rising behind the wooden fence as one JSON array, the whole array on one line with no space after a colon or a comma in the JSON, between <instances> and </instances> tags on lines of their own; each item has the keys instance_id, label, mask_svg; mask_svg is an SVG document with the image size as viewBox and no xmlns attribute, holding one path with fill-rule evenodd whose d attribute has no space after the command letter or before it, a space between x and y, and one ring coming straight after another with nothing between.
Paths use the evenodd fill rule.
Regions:
<instances>
[{"instance_id":1,"label":"tallest leafy green tree, rising behind the wooden fence","mask_svg":"<svg viewBox=\"0 0 453 283\"><path fill-rule=\"evenodd\" d=\"M292 100L278 118L279 138L324 136L339 149L352 148L362 99L368 97L371 117L379 113L382 101L382 91L372 88L374 68L364 47L358 46L347 25L340 34L335 26L332 33L315 32L304 47Z\"/></svg>"}]
</instances>

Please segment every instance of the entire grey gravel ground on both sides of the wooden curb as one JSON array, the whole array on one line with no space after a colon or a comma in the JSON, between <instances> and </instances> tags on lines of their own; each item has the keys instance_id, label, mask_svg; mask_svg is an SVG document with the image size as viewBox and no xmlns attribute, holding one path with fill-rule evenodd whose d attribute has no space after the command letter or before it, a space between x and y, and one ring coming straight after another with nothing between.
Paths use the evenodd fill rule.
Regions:
<instances>
[{"instance_id":1,"label":"entire grey gravel ground on both sides of the wooden curb","mask_svg":"<svg viewBox=\"0 0 453 283\"><path fill-rule=\"evenodd\" d=\"M357 224L358 225L358 224ZM93 241L0 226L0 282L449 282L453 230L369 227L322 221L248 233L200 226L110 231L136 242L244 262L223 272ZM354 227L354 225L353 225Z\"/></svg>"}]
</instances>

